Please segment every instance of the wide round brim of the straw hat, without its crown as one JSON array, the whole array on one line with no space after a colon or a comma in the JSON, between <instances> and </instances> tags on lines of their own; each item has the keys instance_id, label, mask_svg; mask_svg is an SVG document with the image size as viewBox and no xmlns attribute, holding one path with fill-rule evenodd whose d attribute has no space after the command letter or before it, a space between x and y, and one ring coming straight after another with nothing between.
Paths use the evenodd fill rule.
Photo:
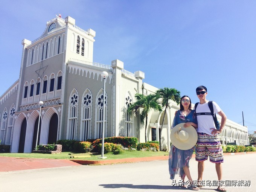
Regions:
<instances>
[{"instance_id":1,"label":"wide round brim of the straw hat, without its crown","mask_svg":"<svg viewBox=\"0 0 256 192\"><path fill-rule=\"evenodd\" d=\"M185 123L180 123L176 125L171 131L172 145L174 145L175 147L181 150L191 149L197 143L197 131L195 130L195 128L192 125L185 128L184 124ZM179 128L181 128L181 130L183 131L186 131L189 135L188 139L184 142L179 140L174 134L179 130Z\"/></svg>"}]
</instances>

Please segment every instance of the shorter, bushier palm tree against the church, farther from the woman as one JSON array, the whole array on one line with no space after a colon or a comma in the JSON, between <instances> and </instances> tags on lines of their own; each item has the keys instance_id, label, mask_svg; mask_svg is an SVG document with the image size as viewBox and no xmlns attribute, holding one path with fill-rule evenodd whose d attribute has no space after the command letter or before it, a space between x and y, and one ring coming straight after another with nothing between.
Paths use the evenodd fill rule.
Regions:
<instances>
[{"instance_id":1,"label":"shorter, bushier palm tree against the church, farther from the woman","mask_svg":"<svg viewBox=\"0 0 256 192\"><path fill-rule=\"evenodd\" d=\"M147 142L147 124L148 124L148 113L151 109L155 111L162 111L162 107L159 105L157 99L157 95L149 94L135 94L136 102L130 105L128 108L128 113L136 114L138 110L140 110L140 122L144 123L144 119L146 118L145 122L145 142Z\"/></svg>"}]
</instances>

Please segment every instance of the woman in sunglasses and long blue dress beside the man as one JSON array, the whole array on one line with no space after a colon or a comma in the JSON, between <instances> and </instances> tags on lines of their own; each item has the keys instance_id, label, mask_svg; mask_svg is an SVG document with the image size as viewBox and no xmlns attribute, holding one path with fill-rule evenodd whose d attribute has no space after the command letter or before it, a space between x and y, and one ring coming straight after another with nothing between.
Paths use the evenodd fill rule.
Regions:
<instances>
[{"instance_id":1,"label":"woman in sunglasses and long blue dress beside the man","mask_svg":"<svg viewBox=\"0 0 256 192\"><path fill-rule=\"evenodd\" d=\"M180 110L176 111L172 128L179 123L185 123L184 127L192 125L197 128L197 117L195 110L191 110L191 100L189 96L184 95L180 99ZM184 183L184 178L187 176L188 180L191 181L191 190L199 190L197 186L192 185L192 178L189 172L189 160L194 152L194 147L188 150L181 150L176 148L174 145L171 146L169 152L169 173L170 179L174 180L176 174L179 174L183 180L181 187L187 188Z\"/></svg>"}]
</instances>

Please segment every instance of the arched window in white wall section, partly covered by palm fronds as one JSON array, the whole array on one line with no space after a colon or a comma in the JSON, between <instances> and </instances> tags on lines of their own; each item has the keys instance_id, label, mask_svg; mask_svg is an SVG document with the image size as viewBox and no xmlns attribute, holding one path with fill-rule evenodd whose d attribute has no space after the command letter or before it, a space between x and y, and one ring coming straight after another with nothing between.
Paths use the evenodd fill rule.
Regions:
<instances>
[{"instance_id":1,"label":"arched window in white wall section, partly covered by palm fronds","mask_svg":"<svg viewBox=\"0 0 256 192\"><path fill-rule=\"evenodd\" d=\"M126 94L125 97L125 136L126 137L133 137L133 121L132 115L127 113L128 108L133 103L132 97L130 94Z\"/></svg>"}]
</instances>

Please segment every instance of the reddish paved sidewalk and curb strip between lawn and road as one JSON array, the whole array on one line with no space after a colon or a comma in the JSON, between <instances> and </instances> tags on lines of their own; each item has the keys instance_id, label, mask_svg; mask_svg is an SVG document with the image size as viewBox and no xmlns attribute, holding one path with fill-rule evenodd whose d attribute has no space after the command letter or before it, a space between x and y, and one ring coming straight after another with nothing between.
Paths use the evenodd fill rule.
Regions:
<instances>
[{"instance_id":1,"label":"reddish paved sidewalk and curb strip between lawn and road","mask_svg":"<svg viewBox=\"0 0 256 192\"><path fill-rule=\"evenodd\" d=\"M241 153L224 153L224 155L247 155L248 153L256 152L241 152ZM195 158L195 154L192 155ZM105 159L99 161L91 160L66 160L66 159L44 159L44 158L17 158L17 157L1 157L0 156L0 172L20 171L29 169L45 169L58 168L67 166L81 165L96 165L96 164L114 164L114 163L134 163L148 162L154 160L167 160L168 155L153 156L153 157L138 157L138 158L123 158L123 159Z\"/></svg>"}]
</instances>

